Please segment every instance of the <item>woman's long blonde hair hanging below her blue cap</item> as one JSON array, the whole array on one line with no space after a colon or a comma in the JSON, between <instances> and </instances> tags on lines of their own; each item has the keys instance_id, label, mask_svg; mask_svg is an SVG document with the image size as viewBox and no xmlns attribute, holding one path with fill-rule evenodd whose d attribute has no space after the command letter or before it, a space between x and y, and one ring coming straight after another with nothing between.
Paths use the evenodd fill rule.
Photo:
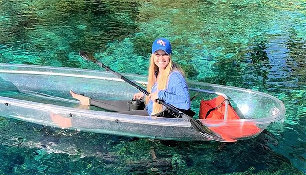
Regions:
<instances>
[{"instance_id":1,"label":"woman's long blonde hair hanging below her blue cap","mask_svg":"<svg viewBox=\"0 0 306 175\"><path fill-rule=\"evenodd\" d=\"M157 90L165 90L166 86L168 84L168 78L170 73L176 69L178 71L180 71L182 73L183 76L185 76L184 71L182 70L182 68L177 65L174 64L172 61L172 57L171 54L169 55L170 57L170 61L169 64L166 66L165 70L163 71L162 75L160 75L158 86L157 86ZM156 73L159 71L159 68L157 67L157 65L154 63L154 56L153 54L151 54L150 57L150 65L149 65L149 75L148 75L148 85L147 85L147 91L149 93L152 93L152 86L155 84L156 82ZM149 103L150 98L148 96L146 96L146 104ZM159 113L162 111L162 105L158 104L156 102L153 103L153 114Z\"/></svg>"}]
</instances>

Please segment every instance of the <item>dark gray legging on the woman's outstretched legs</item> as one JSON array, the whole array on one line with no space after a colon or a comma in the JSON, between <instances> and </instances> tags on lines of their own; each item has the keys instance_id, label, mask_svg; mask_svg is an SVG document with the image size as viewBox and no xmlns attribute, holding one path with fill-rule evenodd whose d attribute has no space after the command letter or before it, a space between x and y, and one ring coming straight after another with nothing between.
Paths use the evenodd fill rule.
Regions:
<instances>
[{"instance_id":1,"label":"dark gray legging on the woman's outstretched legs","mask_svg":"<svg viewBox=\"0 0 306 175\"><path fill-rule=\"evenodd\" d=\"M121 114L144 115L149 116L146 110L131 110L129 109L129 101L114 101L114 100L98 100L89 99L89 104L108 111L114 111Z\"/></svg>"}]
</instances>

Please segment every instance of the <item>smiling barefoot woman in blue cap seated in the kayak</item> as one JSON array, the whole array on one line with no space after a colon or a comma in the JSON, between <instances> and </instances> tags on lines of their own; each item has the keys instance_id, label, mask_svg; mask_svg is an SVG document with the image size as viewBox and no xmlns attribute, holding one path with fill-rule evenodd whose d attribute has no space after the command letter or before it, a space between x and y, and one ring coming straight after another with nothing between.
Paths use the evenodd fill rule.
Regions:
<instances>
[{"instance_id":1,"label":"smiling barefoot woman in blue cap seated in the kayak","mask_svg":"<svg viewBox=\"0 0 306 175\"><path fill-rule=\"evenodd\" d=\"M150 94L145 98L145 102L143 101L145 94L142 92L134 94L132 101L92 99L73 91L70 93L73 98L80 100L82 105L97 106L123 114L173 118L174 116L164 112L166 108L158 104L157 99L164 100L184 113L189 113L190 96L184 72L172 62L171 54L172 46L169 40L159 38L153 42L147 86ZM130 104L136 104L136 108L130 107Z\"/></svg>"}]
</instances>

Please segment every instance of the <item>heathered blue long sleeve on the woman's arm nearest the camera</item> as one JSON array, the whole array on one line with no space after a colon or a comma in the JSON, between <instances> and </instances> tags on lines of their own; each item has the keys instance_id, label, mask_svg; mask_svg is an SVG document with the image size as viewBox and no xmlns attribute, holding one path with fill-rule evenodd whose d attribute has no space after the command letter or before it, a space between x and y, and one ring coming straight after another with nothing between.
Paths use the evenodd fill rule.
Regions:
<instances>
[{"instance_id":1,"label":"heathered blue long sleeve on the woman's arm nearest the camera","mask_svg":"<svg viewBox=\"0 0 306 175\"><path fill-rule=\"evenodd\" d=\"M160 90L157 93L158 98L179 109L189 109L190 95L185 78L180 72L173 72L169 76L168 88Z\"/></svg>"}]
</instances>

